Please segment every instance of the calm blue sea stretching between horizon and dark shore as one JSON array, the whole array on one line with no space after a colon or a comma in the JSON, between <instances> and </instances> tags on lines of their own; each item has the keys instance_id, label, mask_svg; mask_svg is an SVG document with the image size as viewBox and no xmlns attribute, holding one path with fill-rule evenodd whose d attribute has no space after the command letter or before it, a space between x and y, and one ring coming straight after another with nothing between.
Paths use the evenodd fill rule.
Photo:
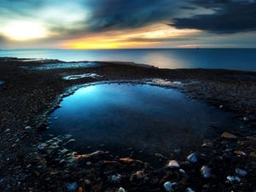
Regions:
<instances>
[{"instance_id":1,"label":"calm blue sea stretching between horizon and dark shore","mask_svg":"<svg viewBox=\"0 0 256 192\"><path fill-rule=\"evenodd\" d=\"M256 49L2 49L0 57L61 61L133 61L160 68L256 71Z\"/></svg>"}]
</instances>

